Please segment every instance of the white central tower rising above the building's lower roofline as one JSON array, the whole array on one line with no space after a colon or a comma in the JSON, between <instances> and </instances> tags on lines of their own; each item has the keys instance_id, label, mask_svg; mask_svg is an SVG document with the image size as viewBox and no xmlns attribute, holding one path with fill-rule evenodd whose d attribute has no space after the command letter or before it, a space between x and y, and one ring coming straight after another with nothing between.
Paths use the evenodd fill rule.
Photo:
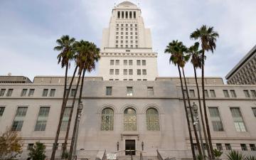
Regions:
<instances>
[{"instance_id":1,"label":"white central tower rising above the building's lower roofline","mask_svg":"<svg viewBox=\"0 0 256 160\"><path fill-rule=\"evenodd\" d=\"M110 26L103 29L99 75L103 80L155 80L158 75L150 29L129 1L114 6Z\"/></svg>"}]
</instances>

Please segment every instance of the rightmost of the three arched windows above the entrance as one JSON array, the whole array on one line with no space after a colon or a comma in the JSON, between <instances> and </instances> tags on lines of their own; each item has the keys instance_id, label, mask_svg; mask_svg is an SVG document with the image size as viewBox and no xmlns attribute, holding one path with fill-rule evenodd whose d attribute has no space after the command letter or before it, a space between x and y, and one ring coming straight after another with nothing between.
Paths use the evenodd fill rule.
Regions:
<instances>
[{"instance_id":1,"label":"rightmost of the three arched windows above the entrance","mask_svg":"<svg viewBox=\"0 0 256 160\"><path fill-rule=\"evenodd\" d=\"M159 113L155 108L146 110L146 129L148 131L159 131Z\"/></svg>"}]
</instances>

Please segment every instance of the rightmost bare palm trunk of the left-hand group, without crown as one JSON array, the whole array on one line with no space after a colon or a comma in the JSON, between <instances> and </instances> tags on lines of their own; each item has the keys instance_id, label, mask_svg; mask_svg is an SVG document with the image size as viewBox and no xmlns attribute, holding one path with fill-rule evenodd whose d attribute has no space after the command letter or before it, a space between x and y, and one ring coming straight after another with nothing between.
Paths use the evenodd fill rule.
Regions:
<instances>
[{"instance_id":1,"label":"rightmost bare palm trunk of the left-hand group, without crown","mask_svg":"<svg viewBox=\"0 0 256 160\"><path fill-rule=\"evenodd\" d=\"M82 71L82 83L81 83L81 87L80 87L80 95L79 95L79 98L78 98L78 105L81 102L82 86L83 86L84 78L85 78L85 69L83 69L83 71ZM78 132L77 132L78 115L79 115L79 110L77 109L77 113L76 113L76 116L75 116L75 125L74 125L74 129L73 129L73 136L72 136L71 145L70 145L70 154L69 154L70 156L68 157L68 160L72 159L74 143L75 143L75 135L78 134Z\"/></svg>"}]
</instances>

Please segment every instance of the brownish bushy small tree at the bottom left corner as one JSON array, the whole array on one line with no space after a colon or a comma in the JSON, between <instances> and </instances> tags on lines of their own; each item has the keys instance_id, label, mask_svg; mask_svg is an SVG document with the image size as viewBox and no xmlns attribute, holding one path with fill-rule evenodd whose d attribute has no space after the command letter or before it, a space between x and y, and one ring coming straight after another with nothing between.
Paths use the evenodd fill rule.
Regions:
<instances>
[{"instance_id":1,"label":"brownish bushy small tree at the bottom left corner","mask_svg":"<svg viewBox=\"0 0 256 160\"><path fill-rule=\"evenodd\" d=\"M22 146L23 142L18 133L6 129L6 132L0 134L0 159L16 159L22 153Z\"/></svg>"}]
</instances>

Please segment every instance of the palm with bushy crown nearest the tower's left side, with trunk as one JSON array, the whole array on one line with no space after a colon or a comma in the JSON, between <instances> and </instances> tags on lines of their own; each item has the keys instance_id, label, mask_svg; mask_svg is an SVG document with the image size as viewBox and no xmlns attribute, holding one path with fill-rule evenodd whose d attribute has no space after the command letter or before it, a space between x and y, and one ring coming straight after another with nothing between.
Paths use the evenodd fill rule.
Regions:
<instances>
[{"instance_id":1,"label":"palm with bushy crown nearest the tower's left side, with trunk","mask_svg":"<svg viewBox=\"0 0 256 160\"><path fill-rule=\"evenodd\" d=\"M78 53L76 58L76 63L79 66L78 74L82 73L80 95L78 98L78 105L79 105L80 102L82 102L81 97L82 97L82 87L84 83L85 72L90 73L92 70L95 70L95 62L97 62L100 59L100 48L97 48L97 46L94 43L90 43L88 41L76 42L74 45L74 48L75 48L75 52ZM78 131L77 131L78 115L79 115L79 112L77 110L76 117L75 117L75 125L73 129L73 136L72 136L72 141L70 145L69 160L71 160L73 156L75 134L78 134Z\"/></svg>"}]
</instances>

